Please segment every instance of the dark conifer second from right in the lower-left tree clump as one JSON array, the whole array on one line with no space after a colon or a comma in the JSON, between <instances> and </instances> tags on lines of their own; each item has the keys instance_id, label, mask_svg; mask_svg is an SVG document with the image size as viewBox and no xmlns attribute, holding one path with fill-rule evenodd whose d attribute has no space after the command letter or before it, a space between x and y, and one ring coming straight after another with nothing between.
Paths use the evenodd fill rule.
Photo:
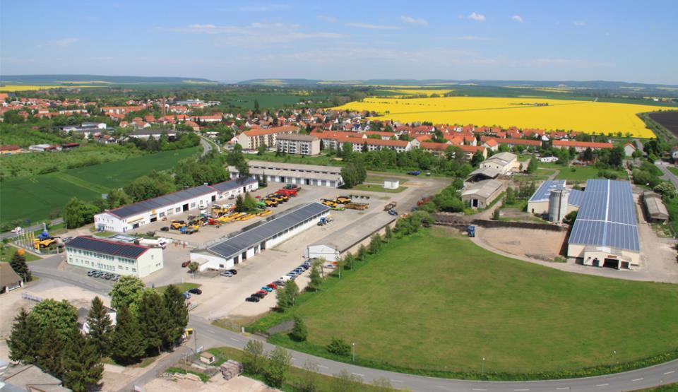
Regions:
<instances>
[{"instance_id":1,"label":"dark conifer second from right in the lower-left tree clump","mask_svg":"<svg viewBox=\"0 0 678 392\"><path fill-rule=\"evenodd\" d=\"M163 345L169 343L169 314L167 308L155 290L148 290L141 297L139 305L139 328L146 340L148 350L160 353Z\"/></svg>"}]
</instances>

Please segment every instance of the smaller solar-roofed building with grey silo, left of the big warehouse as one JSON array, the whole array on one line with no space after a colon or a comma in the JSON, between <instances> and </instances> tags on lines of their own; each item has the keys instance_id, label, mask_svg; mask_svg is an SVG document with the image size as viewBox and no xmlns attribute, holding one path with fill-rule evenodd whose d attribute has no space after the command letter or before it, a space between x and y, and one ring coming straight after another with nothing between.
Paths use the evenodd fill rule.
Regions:
<instances>
[{"instance_id":1,"label":"smaller solar-roofed building with grey silo, left of the big warehouse","mask_svg":"<svg viewBox=\"0 0 678 392\"><path fill-rule=\"evenodd\" d=\"M542 182L535 194L528 200L528 212L537 215L547 215L549 206L559 211L557 216L549 217L552 222L560 222L571 211L579 209L583 191L566 189L565 180L547 180ZM550 215L550 214L549 214Z\"/></svg>"}]
</instances>

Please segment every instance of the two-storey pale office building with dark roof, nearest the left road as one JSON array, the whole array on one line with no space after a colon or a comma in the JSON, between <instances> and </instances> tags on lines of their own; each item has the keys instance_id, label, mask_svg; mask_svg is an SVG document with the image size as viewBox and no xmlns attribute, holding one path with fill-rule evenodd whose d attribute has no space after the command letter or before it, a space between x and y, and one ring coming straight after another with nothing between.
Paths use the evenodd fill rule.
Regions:
<instances>
[{"instance_id":1,"label":"two-storey pale office building with dark roof, nearest the left road","mask_svg":"<svg viewBox=\"0 0 678 392\"><path fill-rule=\"evenodd\" d=\"M66 262L137 278L160 271L164 265L162 249L94 237L76 237L66 243Z\"/></svg>"}]
</instances>

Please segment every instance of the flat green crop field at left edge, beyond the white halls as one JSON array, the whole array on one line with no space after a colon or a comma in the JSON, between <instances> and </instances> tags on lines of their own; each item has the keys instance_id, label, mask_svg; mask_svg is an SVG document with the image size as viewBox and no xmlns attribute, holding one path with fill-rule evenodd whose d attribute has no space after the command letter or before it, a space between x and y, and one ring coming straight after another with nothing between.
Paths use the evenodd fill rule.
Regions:
<instances>
[{"instance_id":1,"label":"flat green crop field at left edge, beyond the white halls","mask_svg":"<svg viewBox=\"0 0 678 392\"><path fill-rule=\"evenodd\" d=\"M73 196L85 200L100 198L110 189L129 184L151 170L167 170L189 158L199 148L163 151L100 165L78 167L35 177L12 179L0 186L0 222L15 219L35 222L64 208Z\"/></svg>"}]
</instances>

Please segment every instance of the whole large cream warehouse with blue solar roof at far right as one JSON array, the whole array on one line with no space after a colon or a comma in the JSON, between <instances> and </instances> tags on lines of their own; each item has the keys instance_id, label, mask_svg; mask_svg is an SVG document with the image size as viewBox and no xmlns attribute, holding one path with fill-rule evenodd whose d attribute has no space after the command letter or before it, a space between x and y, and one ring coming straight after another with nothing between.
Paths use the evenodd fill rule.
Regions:
<instances>
[{"instance_id":1,"label":"whole large cream warehouse with blue solar roof at far right","mask_svg":"<svg viewBox=\"0 0 678 392\"><path fill-rule=\"evenodd\" d=\"M567 256L595 267L631 269L640 265L636 203L629 182L586 182L568 239Z\"/></svg>"}]
</instances>

